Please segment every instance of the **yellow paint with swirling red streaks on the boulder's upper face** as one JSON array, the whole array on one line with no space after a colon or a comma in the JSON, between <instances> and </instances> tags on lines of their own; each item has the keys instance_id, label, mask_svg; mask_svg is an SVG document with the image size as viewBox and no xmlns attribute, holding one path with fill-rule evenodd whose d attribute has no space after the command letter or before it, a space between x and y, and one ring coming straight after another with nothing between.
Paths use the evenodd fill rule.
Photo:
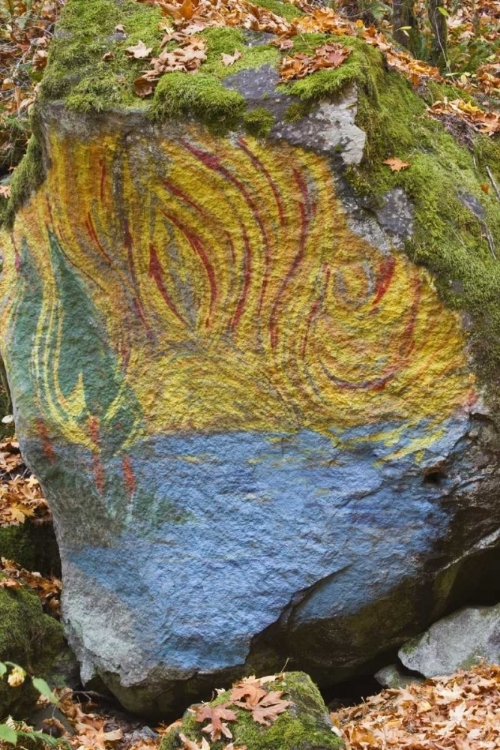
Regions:
<instances>
[{"instance_id":1,"label":"yellow paint with swirling red streaks on the boulder's upper face","mask_svg":"<svg viewBox=\"0 0 500 750\"><path fill-rule=\"evenodd\" d=\"M141 405L132 440L380 424L390 443L397 425L426 420L421 449L473 398L457 316L424 270L349 228L323 157L194 128L183 143L54 135L50 154L2 287L15 290L13 246L26 238L44 282L34 371L40 398L57 394L44 408L70 441L92 442L78 424L83 380L70 398L58 388L47 228Z\"/></svg>"}]
</instances>

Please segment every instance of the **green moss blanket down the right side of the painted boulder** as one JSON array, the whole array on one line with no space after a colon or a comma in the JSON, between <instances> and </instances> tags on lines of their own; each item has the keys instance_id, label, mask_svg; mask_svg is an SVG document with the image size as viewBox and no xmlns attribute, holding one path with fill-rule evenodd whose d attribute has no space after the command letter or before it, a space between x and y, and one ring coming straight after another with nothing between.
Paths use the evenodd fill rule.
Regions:
<instances>
[{"instance_id":1,"label":"green moss blanket down the right side of the painted boulder","mask_svg":"<svg viewBox=\"0 0 500 750\"><path fill-rule=\"evenodd\" d=\"M360 166L347 171L347 178L358 193L371 198L374 207L392 188L405 191L415 207L414 234L406 251L435 276L445 304L473 316L469 337L478 374L483 382L497 384L500 264L487 236L500 259L500 211L494 191L486 194L481 185L488 183L488 161L498 175L498 141L478 136L474 161L441 123L427 115L425 102L409 83L397 73L388 73L380 61L365 66L358 91L357 124L367 134L365 156ZM410 168L391 172L383 164L391 156L410 162ZM464 194L477 201L484 218L464 206ZM492 405L496 405L495 391L490 389Z\"/></svg>"}]
</instances>

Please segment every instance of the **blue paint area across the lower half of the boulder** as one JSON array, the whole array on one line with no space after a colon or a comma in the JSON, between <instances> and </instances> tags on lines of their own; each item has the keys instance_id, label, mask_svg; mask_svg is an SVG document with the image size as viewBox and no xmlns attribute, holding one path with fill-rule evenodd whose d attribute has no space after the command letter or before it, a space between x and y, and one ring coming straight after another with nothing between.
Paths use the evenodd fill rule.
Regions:
<instances>
[{"instance_id":1,"label":"blue paint area across the lower half of the boulder","mask_svg":"<svg viewBox=\"0 0 500 750\"><path fill-rule=\"evenodd\" d=\"M467 420L443 427L420 463L391 459L404 443L368 442L369 428L343 436L357 440L349 449L312 431L150 439L133 450L135 495L108 506L126 519L123 537L66 555L135 613L134 637L157 663L240 664L251 638L321 579L296 622L355 613L415 572L447 529L443 488L423 481L423 467L465 461ZM123 482L119 459L105 471Z\"/></svg>"}]
</instances>

